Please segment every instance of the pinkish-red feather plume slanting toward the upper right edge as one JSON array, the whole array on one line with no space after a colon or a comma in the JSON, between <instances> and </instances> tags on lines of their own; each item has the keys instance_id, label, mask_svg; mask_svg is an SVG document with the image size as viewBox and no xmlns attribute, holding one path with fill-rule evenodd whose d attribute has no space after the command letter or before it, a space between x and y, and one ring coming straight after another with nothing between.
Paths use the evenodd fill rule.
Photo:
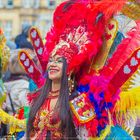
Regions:
<instances>
[{"instance_id":1,"label":"pinkish-red feather plume slanting toward the upper right edge","mask_svg":"<svg viewBox=\"0 0 140 140\"><path fill-rule=\"evenodd\" d=\"M123 39L116 49L112 58L108 60L107 65L101 71L106 76L113 77L127 58L140 46L140 22L137 22L136 28L127 33L128 38Z\"/></svg>"}]
</instances>

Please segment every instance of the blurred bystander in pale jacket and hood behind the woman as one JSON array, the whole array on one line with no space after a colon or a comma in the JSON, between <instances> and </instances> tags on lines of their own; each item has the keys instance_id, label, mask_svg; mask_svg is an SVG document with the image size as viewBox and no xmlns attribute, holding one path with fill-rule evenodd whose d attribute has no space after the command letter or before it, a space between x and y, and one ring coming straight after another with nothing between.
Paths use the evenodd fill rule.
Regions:
<instances>
[{"instance_id":1,"label":"blurred bystander in pale jacket and hood behind the woman","mask_svg":"<svg viewBox=\"0 0 140 140\"><path fill-rule=\"evenodd\" d=\"M9 78L5 79L4 82L4 86L8 92L8 95L10 96L6 99L6 107L10 114L14 114L21 107L28 105L26 94L29 93L29 77L19 64L19 50L21 49L11 51L11 57L8 65L8 71L10 74ZM30 54L34 53L31 49L23 50L28 51ZM11 106L11 101L14 109Z\"/></svg>"}]
</instances>

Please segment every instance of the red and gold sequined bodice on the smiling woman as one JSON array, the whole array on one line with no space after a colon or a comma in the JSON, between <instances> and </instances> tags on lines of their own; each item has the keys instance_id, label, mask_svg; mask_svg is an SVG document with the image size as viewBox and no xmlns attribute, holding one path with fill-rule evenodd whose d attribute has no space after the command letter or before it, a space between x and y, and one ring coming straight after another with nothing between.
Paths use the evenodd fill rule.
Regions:
<instances>
[{"instance_id":1,"label":"red and gold sequined bodice on the smiling woman","mask_svg":"<svg viewBox=\"0 0 140 140\"><path fill-rule=\"evenodd\" d=\"M36 140L45 140L48 132L52 140L62 137L58 113L50 108L51 101L52 98L47 98L35 116L33 126L34 133L37 133Z\"/></svg>"}]
</instances>

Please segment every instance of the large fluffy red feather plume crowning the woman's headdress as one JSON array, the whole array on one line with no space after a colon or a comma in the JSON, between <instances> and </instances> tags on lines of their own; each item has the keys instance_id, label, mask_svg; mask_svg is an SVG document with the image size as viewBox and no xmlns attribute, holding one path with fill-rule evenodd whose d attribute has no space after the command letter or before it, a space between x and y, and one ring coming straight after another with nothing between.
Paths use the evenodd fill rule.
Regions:
<instances>
[{"instance_id":1,"label":"large fluffy red feather plume crowning the woman's headdress","mask_svg":"<svg viewBox=\"0 0 140 140\"><path fill-rule=\"evenodd\" d=\"M67 41L66 35L69 35L70 32L74 32L79 26L84 24L90 42L79 45L71 40L71 42L77 46L82 46L84 49L72 58L68 66L68 73L69 71L77 72L85 62L91 63L92 58L96 56L102 46L102 38L107 22L114 14L122 9L125 2L126 0L117 2L115 0L102 0L98 2L77 0L63 2L56 8L53 27L46 36L46 50L48 54L50 54L59 43L60 39ZM82 14L81 11L83 11Z\"/></svg>"}]
</instances>

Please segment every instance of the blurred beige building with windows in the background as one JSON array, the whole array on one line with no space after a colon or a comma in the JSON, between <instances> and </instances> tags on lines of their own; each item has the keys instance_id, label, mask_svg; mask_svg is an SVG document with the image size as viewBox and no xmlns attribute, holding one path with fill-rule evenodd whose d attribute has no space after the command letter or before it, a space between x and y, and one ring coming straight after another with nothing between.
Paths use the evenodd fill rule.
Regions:
<instances>
[{"instance_id":1,"label":"blurred beige building with windows in the background","mask_svg":"<svg viewBox=\"0 0 140 140\"><path fill-rule=\"evenodd\" d=\"M51 26L55 7L63 0L0 0L0 27L13 39L24 26L35 25L43 37Z\"/></svg>"}]
</instances>

